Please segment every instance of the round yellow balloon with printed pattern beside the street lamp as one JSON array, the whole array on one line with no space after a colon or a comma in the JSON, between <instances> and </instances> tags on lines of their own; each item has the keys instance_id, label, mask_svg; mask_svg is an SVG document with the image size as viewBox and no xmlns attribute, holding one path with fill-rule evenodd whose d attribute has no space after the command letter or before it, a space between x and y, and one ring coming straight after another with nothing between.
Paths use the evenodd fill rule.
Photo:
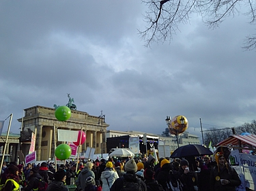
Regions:
<instances>
[{"instance_id":1,"label":"round yellow balloon with printed pattern beside the street lamp","mask_svg":"<svg viewBox=\"0 0 256 191\"><path fill-rule=\"evenodd\" d=\"M184 122L182 124L181 119L184 118ZM175 116L171 119L171 125L169 126L169 132L172 135L180 135L186 131L188 128L188 120L184 116Z\"/></svg>"}]
</instances>

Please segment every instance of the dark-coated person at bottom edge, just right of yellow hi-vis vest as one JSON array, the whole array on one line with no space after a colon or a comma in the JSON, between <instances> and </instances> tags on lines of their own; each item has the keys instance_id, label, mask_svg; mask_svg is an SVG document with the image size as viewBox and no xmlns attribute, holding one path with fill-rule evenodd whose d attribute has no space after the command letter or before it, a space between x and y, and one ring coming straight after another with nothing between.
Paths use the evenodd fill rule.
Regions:
<instances>
[{"instance_id":1,"label":"dark-coated person at bottom edge, just right of yellow hi-vis vest","mask_svg":"<svg viewBox=\"0 0 256 191\"><path fill-rule=\"evenodd\" d=\"M42 179L41 175L38 173L37 167L34 167L29 172L28 184L24 188L24 191L36 190L38 189L39 181Z\"/></svg>"}]
</instances>

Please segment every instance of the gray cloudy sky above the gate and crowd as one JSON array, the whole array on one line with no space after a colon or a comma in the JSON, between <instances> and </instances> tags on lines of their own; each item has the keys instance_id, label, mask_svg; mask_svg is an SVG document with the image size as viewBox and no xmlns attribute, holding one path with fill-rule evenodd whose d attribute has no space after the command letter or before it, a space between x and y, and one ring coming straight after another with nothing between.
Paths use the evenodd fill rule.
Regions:
<instances>
[{"instance_id":1,"label":"gray cloudy sky above the gate and crowd","mask_svg":"<svg viewBox=\"0 0 256 191\"><path fill-rule=\"evenodd\" d=\"M205 130L256 120L248 18L211 30L194 16L171 44L145 48L145 10L138 0L1 1L0 120L14 114L18 132L23 109L66 105L67 93L79 111L103 110L111 130L161 134L167 115L184 115L201 135L199 118Z\"/></svg>"}]
</instances>

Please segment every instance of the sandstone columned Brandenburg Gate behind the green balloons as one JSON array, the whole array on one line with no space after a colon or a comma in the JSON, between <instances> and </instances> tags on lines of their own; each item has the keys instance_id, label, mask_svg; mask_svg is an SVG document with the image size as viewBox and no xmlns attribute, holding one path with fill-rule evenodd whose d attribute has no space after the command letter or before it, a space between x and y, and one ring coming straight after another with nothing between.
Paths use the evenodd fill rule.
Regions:
<instances>
[{"instance_id":1,"label":"sandstone columned Brandenburg Gate behind the green balloons","mask_svg":"<svg viewBox=\"0 0 256 191\"><path fill-rule=\"evenodd\" d=\"M95 153L106 153L106 128L102 116L90 116L87 112L72 111L67 121L55 118L55 108L36 105L25 110L25 116L18 119L22 123L20 149L24 155L29 153L31 133L35 133L35 151L37 160L49 160L55 157L55 145L64 142L57 140L57 130L84 131L86 140L81 145L81 152L87 147L94 147Z\"/></svg>"}]
</instances>

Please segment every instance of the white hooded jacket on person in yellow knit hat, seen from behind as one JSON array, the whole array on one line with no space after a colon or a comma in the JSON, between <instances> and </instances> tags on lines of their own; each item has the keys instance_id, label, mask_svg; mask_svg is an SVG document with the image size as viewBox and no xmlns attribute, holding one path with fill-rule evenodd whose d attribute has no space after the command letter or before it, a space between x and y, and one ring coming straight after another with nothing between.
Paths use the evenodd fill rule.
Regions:
<instances>
[{"instance_id":1,"label":"white hooded jacket on person in yellow knit hat, seen from behind","mask_svg":"<svg viewBox=\"0 0 256 191\"><path fill-rule=\"evenodd\" d=\"M117 178L119 178L119 176L116 171L113 171L111 168L106 168L105 171L102 172L100 177L102 181L102 191L109 191L112 184Z\"/></svg>"}]
</instances>

